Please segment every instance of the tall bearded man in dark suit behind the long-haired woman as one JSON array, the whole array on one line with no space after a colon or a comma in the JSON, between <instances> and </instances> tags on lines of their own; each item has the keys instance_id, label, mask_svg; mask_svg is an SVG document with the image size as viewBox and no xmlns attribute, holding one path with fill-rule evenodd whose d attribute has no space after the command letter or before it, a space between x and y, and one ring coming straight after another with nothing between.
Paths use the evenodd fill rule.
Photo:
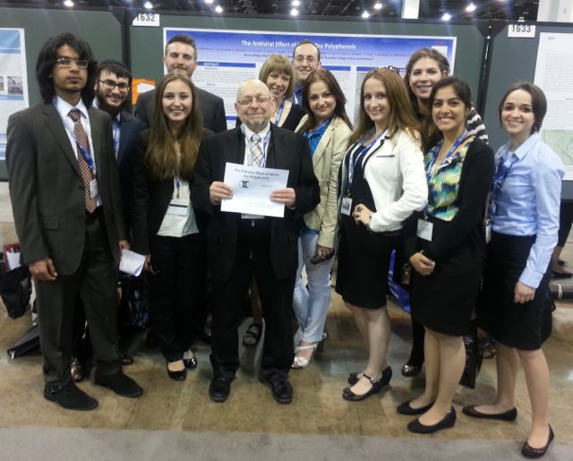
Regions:
<instances>
[{"instance_id":1,"label":"tall bearded man in dark suit behind the long-haired woman","mask_svg":"<svg viewBox=\"0 0 573 461\"><path fill-rule=\"evenodd\" d=\"M187 35L175 35L167 42L163 63L169 73L179 73L191 79L192 73L197 67L197 45L195 40ZM144 124L150 126L153 121L155 90L147 91L137 99L135 116ZM203 115L203 126L211 132L224 132L227 130L225 119L225 107L223 99L209 91L197 88L197 96Z\"/></svg>"}]
</instances>

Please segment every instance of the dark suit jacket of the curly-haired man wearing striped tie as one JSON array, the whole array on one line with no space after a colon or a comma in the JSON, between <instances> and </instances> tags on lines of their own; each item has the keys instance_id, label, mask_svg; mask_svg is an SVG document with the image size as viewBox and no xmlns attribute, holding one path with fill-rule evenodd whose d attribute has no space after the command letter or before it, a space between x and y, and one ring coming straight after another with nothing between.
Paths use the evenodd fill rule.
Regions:
<instances>
[{"instance_id":1,"label":"dark suit jacket of the curly-haired man wearing striped tie","mask_svg":"<svg viewBox=\"0 0 573 461\"><path fill-rule=\"evenodd\" d=\"M118 263L126 235L111 118L93 107L89 115L107 239ZM84 185L56 107L40 102L10 116L6 165L23 262L51 258L59 274L73 274L84 248Z\"/></svg>"}]
</instances>

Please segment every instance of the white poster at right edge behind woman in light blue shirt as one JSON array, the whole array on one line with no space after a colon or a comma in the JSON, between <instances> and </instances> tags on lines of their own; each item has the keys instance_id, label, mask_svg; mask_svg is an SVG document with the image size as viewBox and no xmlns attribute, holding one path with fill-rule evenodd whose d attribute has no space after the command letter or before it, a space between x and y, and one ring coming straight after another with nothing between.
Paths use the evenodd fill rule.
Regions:
<instances>
[{"instance_id":1,"label":"white poster at right edge behind woman in light blue shirt","mask_svg":"<svg viewBox=\"0 0 573 461\"><path fill-rule=\"evenodd\" d=\"M535 84L547 98L541 138L565 164L573 180L573 34L539 34Z\"/></svg>"}]
</instances>

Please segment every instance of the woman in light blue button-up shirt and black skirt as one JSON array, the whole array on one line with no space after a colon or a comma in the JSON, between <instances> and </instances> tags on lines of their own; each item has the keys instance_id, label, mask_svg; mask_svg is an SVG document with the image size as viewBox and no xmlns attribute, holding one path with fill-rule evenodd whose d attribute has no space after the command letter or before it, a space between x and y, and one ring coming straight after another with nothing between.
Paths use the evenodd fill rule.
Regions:
<instances>
[{"instance_id":1,"label":"woman in light blue button-up shirt and black skirt","mask_svg":"<svg viewBox=\"0 0 573 461\"><path fill-rule=\"evenodd\" d=\"M542 344L551 334L552 313L545 308L545 295L565 171L537 134L546 112L545 95L533 83L517 83L500 102L500 123L509 142L495 154L489 210L492 242L483 303L477 311L479 326L496 341L498 390L491 405L463 410L475 418L514 421L521 363L531 403L531 430L522 448L525 457L542 457L553 440L547 414L549 370Z\"/></svg>"}]
</instances>

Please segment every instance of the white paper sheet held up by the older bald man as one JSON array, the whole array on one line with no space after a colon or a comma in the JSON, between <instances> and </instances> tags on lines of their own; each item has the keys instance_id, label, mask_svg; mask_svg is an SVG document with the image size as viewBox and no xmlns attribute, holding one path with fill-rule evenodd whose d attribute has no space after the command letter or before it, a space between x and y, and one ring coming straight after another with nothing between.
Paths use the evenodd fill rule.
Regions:
<instances>
[{"instance_id":1,"label":"white paper sheet held up by the older bald man","mask_svg":"<svg viewBox=\"0 0 573 461\"><path fill-rule=\"evenodd\" d=\"M221 202L221 211L285 216L285 205L271 201L270 192L286 188L288 170L227 163L223 181L233 189L233 198Z\"/></svg>"}]
</instances>

